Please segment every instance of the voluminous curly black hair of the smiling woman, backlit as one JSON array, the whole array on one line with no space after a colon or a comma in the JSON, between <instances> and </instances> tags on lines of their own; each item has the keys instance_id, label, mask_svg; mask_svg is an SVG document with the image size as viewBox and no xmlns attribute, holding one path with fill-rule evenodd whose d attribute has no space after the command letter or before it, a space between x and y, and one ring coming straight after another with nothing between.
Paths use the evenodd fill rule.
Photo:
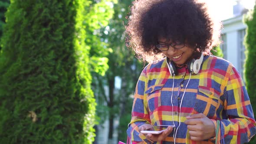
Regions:
<instances>
[{"instance_id":1,"label":"voluminous curly black hair of the smiling woman, backlit","mask_svg":"<svg viewBox=\"0 0 256 144\"><path fill-rule=\"evenodd\" d=\"M220 43L219 24L207 4L198 0L135 0L126 26L127 42L138 58L148 62L164 57L156 48L160 37L185 41L209 55Z\"/></svg>"}]
</instances>

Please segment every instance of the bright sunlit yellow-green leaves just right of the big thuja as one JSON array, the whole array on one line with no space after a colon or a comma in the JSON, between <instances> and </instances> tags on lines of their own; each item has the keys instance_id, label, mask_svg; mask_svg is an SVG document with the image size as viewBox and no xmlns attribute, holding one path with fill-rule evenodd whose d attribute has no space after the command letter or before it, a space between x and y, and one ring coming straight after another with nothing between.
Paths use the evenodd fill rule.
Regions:
<instances>
[{"instance_id":1,"label":"bright sunlit yellow-green leaves just right of the big thuja","mask_svg":"<svg viewBox=\"0 0 256 144\"><path fill-rule=\"evenodd\" d=\"M92 73L96 72L99 75L105 75L108 69L108 52L111 48L101 38L101 29L104 29L109 19L112 18L114 10L113 4L117 0L92 0L90 7L87 7L87 13L85 14L84 24L86 30L85 43L91 47L90 49L90 70Z\"/></svg>"}]
</instances>

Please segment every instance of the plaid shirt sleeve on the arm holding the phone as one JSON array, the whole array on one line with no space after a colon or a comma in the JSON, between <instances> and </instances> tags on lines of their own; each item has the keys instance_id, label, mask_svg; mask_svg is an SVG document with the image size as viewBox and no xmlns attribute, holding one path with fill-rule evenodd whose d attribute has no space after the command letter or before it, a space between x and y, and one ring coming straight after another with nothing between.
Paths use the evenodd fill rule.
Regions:
<instances>
[{"instance_id":1,"label":"plaid shirt sleeve on the arm holding the phone","mask_svg":"<svg viewBox=\"0 0 256 144\"><path fill-rule=\"evenodd\" d=\"M148 142L146 137L138 132L138 127L151 124L145 90L147 88L147 67L141 72L138 79L131 111L131 122L128 124L127 134L135 144L141 141Z\"/></svg>"}]
</instances>

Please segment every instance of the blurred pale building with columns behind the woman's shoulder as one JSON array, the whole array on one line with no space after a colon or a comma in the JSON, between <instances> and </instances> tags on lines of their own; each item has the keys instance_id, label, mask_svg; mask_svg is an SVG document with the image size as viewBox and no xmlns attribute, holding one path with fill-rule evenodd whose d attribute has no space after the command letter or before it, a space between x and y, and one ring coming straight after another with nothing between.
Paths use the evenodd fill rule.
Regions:
<instances>
[{"instance_id":1,"label":"blurred pale building with columns behind the woman's shoulder","mask_svg":"<svg viewBox=\"0 0 256 144\"><path fill-rule=\"evenodd\" d=\"M221 30L223 43L220 44L220 48L223 51L223 58L236 67L242 78L245 62L243 41L246 33L243 15L247 12L248 10L243 7L240 0L236 0L236 5L233 6L233 17L223 20L223 29Z\"/></svg>"}]
</instances>

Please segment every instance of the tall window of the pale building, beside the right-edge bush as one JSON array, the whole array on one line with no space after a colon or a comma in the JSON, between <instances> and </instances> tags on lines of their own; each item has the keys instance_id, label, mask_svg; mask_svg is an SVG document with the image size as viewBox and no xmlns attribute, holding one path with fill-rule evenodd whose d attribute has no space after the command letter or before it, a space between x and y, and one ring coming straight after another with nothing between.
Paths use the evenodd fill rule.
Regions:
<instances>
[{"instance_id":1,"label":"tall window of the pale building, beside the right-edge bush","mask_svg":"<svg viewBox=\"0 0 256 144\"><path fill-rule=\"evenodd\" d=\"M245 46L243 44L245 36L245 29L238 31L238 72L243 78L243 69L244 69L244 62L245 62Z\"/></svg>"}]
</instances>

